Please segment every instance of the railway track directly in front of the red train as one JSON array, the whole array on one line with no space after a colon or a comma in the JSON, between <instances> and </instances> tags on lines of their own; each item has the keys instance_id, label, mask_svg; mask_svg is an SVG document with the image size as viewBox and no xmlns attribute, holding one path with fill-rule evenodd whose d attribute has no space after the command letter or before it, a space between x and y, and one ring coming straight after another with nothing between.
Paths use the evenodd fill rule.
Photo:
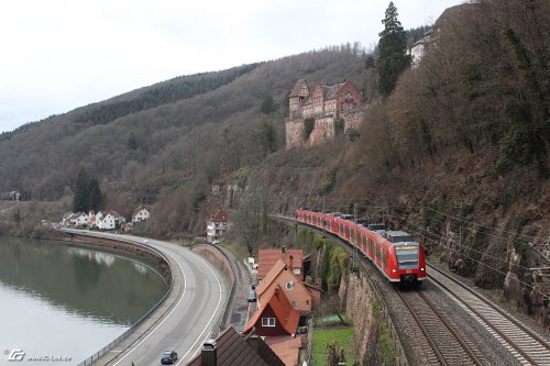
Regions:
<instances>
[{"instance_id":1,"label":"railway track directly in front of the red train","mask_svg":"<svg viewBox=\"0 0 550 366\"><path fill-rule=\"evenodd\" d=\"M487 365L475 344L459 334L457 324L440 312L422 291L396 292L428 340L432 351L428 354L430 365Z\"/></svg>"}]
</instances>

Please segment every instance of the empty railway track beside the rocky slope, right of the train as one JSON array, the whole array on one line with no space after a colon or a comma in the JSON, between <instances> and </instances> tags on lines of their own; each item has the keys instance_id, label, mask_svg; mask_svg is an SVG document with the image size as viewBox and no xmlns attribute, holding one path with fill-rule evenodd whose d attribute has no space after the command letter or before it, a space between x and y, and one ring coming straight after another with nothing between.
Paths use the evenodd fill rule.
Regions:
<instances>
[{"instance_id":1,"label":"empty railway track beside the rocky slope, right of the train","mask_svg":"<svg viewBox=\"0 0 550 366\"><path fill-rule=\"evenodd\" d=\"M501 342L521 365L550 365L550 343L504 310L433 266L430 280Z\"/></svg>"}]
</instances>

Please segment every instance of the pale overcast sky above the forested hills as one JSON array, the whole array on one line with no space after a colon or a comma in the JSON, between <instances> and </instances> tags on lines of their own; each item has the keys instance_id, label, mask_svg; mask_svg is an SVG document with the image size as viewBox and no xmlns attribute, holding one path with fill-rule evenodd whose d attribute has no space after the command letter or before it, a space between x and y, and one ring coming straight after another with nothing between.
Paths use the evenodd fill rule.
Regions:
<instances>
[{"instance_id":1,"label":"pale overcast sky above the forested hills","mask_svg":"<svg viewBox=\"0 0 550 366\"><path fill-rule=\"evenodd\" d=\"M464 0L394 0L405 29ZM360 42L388 0L16 0L0 4L0 132L182 75ZM292 86L289 86L292 87Z\"/></svg>"}]
</instances>

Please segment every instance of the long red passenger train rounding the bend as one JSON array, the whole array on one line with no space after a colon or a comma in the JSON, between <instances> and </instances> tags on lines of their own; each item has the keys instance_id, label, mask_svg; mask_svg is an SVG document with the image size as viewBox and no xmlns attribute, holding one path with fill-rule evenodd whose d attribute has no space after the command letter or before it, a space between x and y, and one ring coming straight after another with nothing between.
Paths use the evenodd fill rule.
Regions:
<instances>
[{"instance_id":1,"label":"long red passenger train rounding the bend","mask_svg":"<svg viewBox=\"0 0 550 366\"><path fill-rule=\"evenodd\" d=\"M403 231L354 222L351 214L340 212L298 209L295 217L299 222L323 229L358 247L392 282L420 285L426 279L424 247Z\"/></svg>"}]
</instances>

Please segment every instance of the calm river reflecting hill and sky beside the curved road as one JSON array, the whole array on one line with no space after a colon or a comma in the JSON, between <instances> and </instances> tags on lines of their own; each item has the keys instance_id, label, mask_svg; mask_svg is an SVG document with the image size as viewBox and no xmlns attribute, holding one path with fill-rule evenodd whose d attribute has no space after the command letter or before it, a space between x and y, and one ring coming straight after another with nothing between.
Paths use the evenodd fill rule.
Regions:
<instances>
[{"instance_id":1,"label":"calm river reflecting hill and sky beside the curved road","mask_svg":"<svg viewBox=\"0 0 550 366\"><path fill-rule=\"evenodd\" d=\"M163 277L132 256L0 236L0 365L77 365L166 290Z\"/></svg>"}]
</instances>

